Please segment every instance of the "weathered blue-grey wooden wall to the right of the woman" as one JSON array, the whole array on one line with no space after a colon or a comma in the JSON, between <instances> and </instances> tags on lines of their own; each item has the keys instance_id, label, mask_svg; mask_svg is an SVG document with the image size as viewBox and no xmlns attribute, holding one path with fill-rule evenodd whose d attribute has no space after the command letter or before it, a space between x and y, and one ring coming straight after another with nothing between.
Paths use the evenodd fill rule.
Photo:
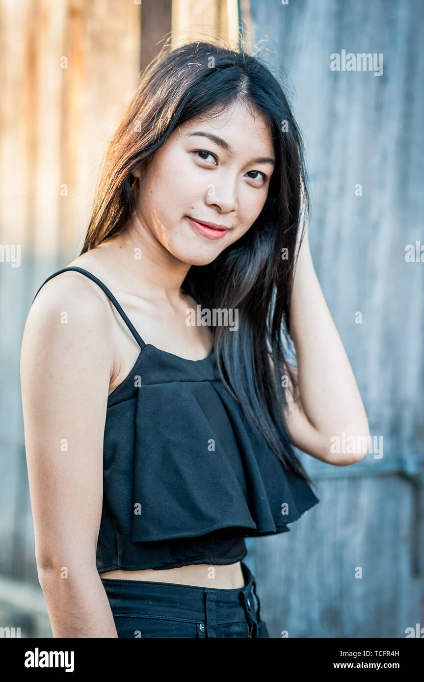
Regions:
<instances>
[{"instance_id":1,"label":"weathered blue-grey wooden wall to the right of the woman","mask_svg":"<svg viewBox=\"0 0 424 682\"><path fill-rule=\"evenodd\" d=\"M273 637L404 637L424 623L424 263L405 261L406 245L424 245L423 3L243 0L243 10L257 53L290 79L314 265L372 436L384 439L382 458L350 467L303 455L320 503L290 533L254 540L262 615ZM382 76L332 71L342 50L383 53Z\"/></svg>"}]
</instances>

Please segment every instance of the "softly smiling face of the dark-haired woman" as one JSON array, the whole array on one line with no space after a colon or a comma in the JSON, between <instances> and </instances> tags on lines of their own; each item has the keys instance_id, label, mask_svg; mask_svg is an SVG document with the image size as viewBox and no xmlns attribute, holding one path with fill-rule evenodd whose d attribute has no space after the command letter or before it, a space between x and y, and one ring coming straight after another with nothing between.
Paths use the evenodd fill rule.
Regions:
<instances>
[{"instance_id":1,"label":"softly smiling face of the dark-haired woman","mask_svg":"<svg viewBox=\"0 0 424 682\"><path fill-rule=\"evenodd\" d=\"M258 218L274 162L264 118L243 104L187 121L133 172L138 218L179 261L211 263Z\"/></svg>"}]
</instances>

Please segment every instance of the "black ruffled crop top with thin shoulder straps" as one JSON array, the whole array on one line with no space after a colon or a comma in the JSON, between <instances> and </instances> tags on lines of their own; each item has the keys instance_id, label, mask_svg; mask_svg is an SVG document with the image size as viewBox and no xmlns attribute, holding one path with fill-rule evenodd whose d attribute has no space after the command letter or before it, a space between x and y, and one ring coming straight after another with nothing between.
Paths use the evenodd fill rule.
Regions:
<instances>
[{"instance_id":1,"label":"black ruffled crop top with thin shoulder straps","mask_svg":"<svg viewBox=\"0 0 424 682\"><path fill-rule=\"evenodd\" d=\"M105 284L80 267L42 286L68 270L103 289L140 346L107 401L97 571L236 563L245 537L289 531L319 500L254 434L214 351L189 360L146 344Z\"/></svg>"}]
</instances>

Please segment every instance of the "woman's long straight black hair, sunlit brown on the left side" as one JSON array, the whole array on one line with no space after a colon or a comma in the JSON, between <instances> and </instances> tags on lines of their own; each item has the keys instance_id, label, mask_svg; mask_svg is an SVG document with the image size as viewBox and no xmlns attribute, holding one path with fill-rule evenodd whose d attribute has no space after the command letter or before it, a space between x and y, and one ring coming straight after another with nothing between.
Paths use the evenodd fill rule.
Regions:
<instances>
[{"instance_id":1,"label":"woman's long straight black hair, sunlit brown on the left side","mask_svg":"<svg viewBox=\"0 0 424 682\"><path fill-rule=\"evenodd\" d=\"M312 483L286 428L282 377L295 376L286 359L294 265L309 214L303 141L288 99L269 68L245 50L215 42L168 44L140 74L106 151L81 254L127 228L136 208L132 174L177 125L220 113L235 100L267 121L275 168L260 216L208 265L192 265L182 288L201 308L239 311L239 329L213 327L217 370L254 432L286 471ZM274 372L271 371L270 358ZM298 391L294 397L299 399Z\"/></svg>"}]
</instances>

